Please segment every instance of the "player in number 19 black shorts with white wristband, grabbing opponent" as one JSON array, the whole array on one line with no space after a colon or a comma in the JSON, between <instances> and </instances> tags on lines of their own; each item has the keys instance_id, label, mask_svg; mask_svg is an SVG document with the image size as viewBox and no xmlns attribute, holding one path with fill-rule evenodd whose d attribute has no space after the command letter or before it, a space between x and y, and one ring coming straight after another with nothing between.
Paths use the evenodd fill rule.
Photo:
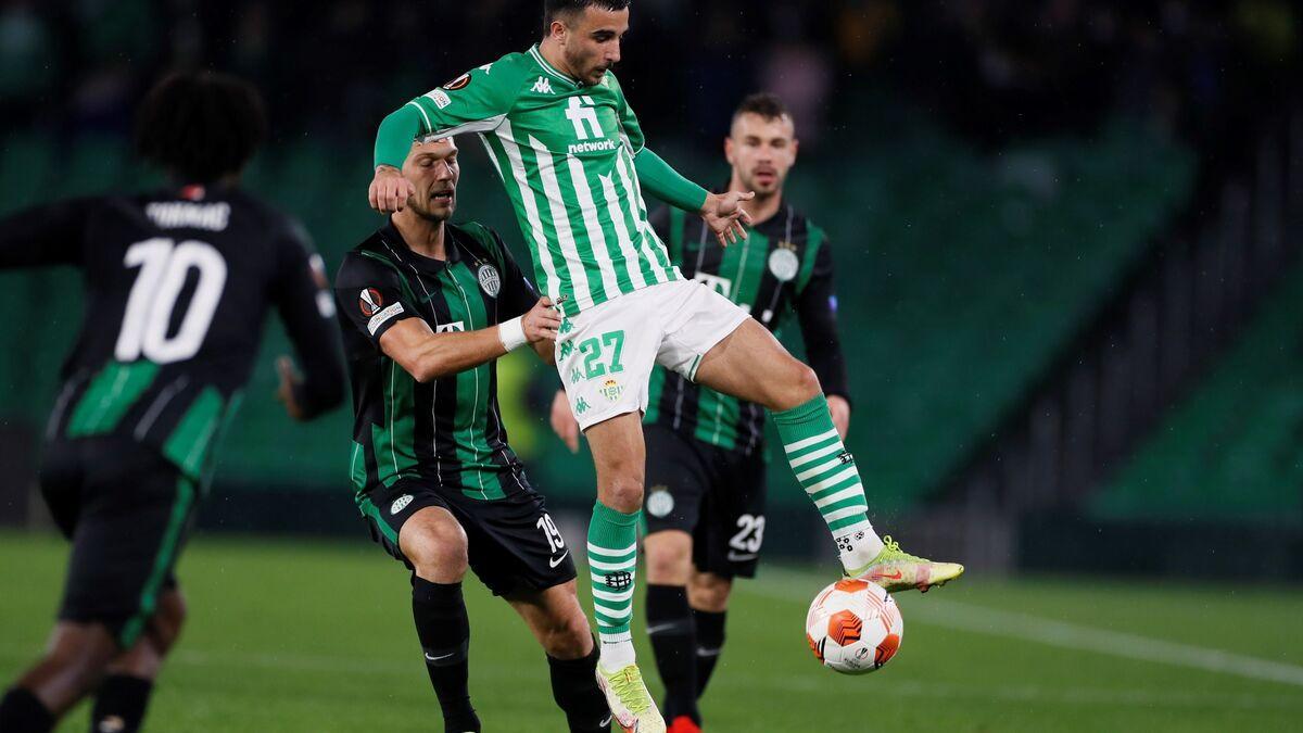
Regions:
<instances>
[{"instance_id":1,"label":"player in number 19 black shorts with white wristband, grabbing opponent","mask_svg":"<svg viewBox=\"0 0 1303 733\"><path fill-rule=\"evenodd\" d=\"M412 573L412 613L446 730L481 729L468 691L468 567L541 640L569 729L609 730L569 546L498 410L495 360L528 343L550 363L562 318L495 232L447 223L460 176L452 138L412 145L403 175L414 188L407 206L345 257L335 283L358 509Z\"/></svg>"}]
</instances>

